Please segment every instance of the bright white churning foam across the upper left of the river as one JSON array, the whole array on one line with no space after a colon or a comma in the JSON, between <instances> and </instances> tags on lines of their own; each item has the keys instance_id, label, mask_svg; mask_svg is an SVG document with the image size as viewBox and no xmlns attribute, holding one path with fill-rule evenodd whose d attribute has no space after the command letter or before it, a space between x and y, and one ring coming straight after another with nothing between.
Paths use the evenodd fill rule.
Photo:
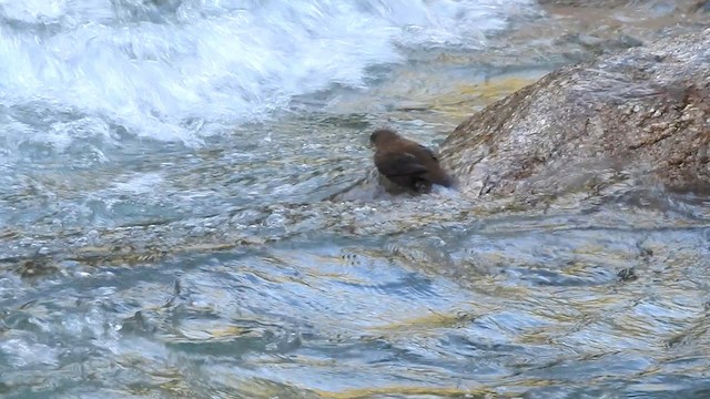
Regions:
<instances>
[{"instance_id":1,"label":"bright white churning foam across the upper left of the river","mask_svg":"<svg viewBox=\"0 0 710 399\"><path fill-rule=\"evenodd\" d=\"M60 146L83 133L45 134L59 110L194 144L295 95L364 88L397 45L479 47L529 2L0 0L0 105L47 108L33 134Z\"/></svg>"}]
</instances>

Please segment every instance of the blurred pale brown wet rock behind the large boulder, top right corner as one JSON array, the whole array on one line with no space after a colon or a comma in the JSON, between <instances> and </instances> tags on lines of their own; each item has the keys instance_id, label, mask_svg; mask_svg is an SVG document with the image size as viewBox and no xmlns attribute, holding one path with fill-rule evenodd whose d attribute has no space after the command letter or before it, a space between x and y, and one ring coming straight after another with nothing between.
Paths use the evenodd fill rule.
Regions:
<instances>
[{"instance_id":1,"label":"blurred pale brown wet rock behind the large boulder, top right corner","mask_svg":"<svg viewBox=\"0 0 710 399\"><path fill-rule=\"evenodd\" d=\"M652 43L708 27L696 0L540 1L546 23L530 21L496 42L507 59L525 57L557 65L591 61L600 54ZM574 28L570 28L574 25ZM535 47L520 45L530 35ZM495 61L494 61L495 62Z\"/></svg>"}]
</instances>

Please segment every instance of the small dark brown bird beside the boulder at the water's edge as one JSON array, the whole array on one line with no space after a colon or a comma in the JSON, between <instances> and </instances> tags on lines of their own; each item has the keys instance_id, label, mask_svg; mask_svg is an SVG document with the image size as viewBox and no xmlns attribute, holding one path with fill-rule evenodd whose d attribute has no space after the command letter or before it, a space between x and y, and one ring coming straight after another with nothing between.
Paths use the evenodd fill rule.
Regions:
<instances>
[{"instance_id":1,"label":"small dark brown bird beside the boulder at the water's edge","mask_svg":"<svg viewBox=\"0 0 710 399\"><path fill-rule=\"evenodd\" d=\"M432 150L405 139L389 129L369 136L375 146L375 166L392 183L418 193L428 193L432 184L454 185Z\"/></svg>"}]
</instances>

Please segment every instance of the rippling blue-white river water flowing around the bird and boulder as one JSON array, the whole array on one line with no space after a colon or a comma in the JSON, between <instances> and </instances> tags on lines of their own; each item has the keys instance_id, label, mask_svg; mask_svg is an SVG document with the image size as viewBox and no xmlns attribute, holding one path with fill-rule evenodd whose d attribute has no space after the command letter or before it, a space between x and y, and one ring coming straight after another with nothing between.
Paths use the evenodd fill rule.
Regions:
<instances>
[{"instance_id":1,"label":"rippling blue-white river water flowing around the bird and boulder","mask_svg":"<svg viewBox=\"0 0 710 399\"><path fill-rule=\"evenodd\" d=\"M568 23L548 18L0 1L0 395L710 395L703 198L323 201L375 126L436 144L581 57L531 34Z\"/></svg>"}]
</instances>

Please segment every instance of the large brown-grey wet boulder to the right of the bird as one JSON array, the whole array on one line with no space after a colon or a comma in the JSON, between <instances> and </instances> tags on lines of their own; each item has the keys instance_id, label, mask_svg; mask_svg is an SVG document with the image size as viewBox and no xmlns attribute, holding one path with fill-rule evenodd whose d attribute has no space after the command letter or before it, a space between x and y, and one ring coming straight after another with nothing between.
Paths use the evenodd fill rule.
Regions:
<instances>
[{"instance_id":1,"label":"large brown-grey wet boulder to the right of the bird","mask_svg":"<svg viewBox=\"0 0 710 399\"><path fill-rule=\"evenodd\" d=\"M710 30L565 66L442 144L462 191L559 194L619 183L710 187Z\"/></svg>"}]
</instances>

